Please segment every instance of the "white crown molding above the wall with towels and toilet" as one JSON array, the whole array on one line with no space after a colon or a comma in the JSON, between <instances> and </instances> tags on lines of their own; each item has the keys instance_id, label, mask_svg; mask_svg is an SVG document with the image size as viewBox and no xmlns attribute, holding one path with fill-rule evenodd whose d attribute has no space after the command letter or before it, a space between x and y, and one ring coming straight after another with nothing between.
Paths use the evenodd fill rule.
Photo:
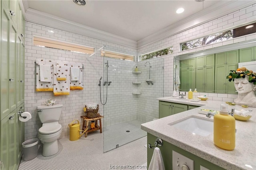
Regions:
<instances>
[{"instance_id":1,"label":"white crown molding above the wall with towels and toilet","mask_svg":"<svg viewBox=\"0 0 256 170\"><path fill-rule=\"evenodd\" d=\"M24 1L23 1L24 2ZM26 4L24 4L24 7ZM26 8L25 8L26 9ZM114 35L105 31L100 31L92 27L88 27L79 23L75 23L63 18L59 18L32 8L28 8L25 12L26 21L33 23L38 23L48 27L54 27L56 29L61 29L64 31L69 31L72 33L78 33L80 35L88 36L94 39L99 39L102 41L124 45L126 47L131 47L137 49L137 41L126 39L124 37Z\"/></svg>"}]
</instances>

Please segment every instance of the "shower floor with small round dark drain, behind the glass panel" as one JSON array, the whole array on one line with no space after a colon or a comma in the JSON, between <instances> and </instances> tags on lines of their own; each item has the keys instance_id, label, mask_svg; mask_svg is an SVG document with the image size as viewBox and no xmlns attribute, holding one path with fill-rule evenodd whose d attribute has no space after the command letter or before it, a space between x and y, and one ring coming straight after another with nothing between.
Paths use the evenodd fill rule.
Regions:
<instances>
[{"instance_id":1,"label":"shower floor with small round dark drain, behind the glass panel","mask_svg":"<svg viewBox=\"0 0 256 170\"><path fill-rule=\"evenodd\" d=\"M146 131L140 129L142 123L144 122L135 119L104 127L104 152L115 149L116 145L120 147L126 143L145 137L147 135Z\"/></svg>"}]
</instances>

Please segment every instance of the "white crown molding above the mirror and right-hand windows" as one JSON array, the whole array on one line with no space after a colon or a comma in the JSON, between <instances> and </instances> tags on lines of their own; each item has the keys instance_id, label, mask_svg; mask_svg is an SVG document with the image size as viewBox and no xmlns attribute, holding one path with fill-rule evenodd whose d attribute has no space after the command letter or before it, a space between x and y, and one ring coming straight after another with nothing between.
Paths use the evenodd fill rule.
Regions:
<instances>
[{"instance_id":1,"label":"white crown molding above the mirror and right-hand windows","mask_svg":"<svg viewBox=\"0 0 256 170\"><path fill-rule=\"evenodd\" d=\"M220 1L218 4L210 6L209 8L206 8L205 10L190 16L185 20L174 23L148 37L140 39L139 41L137 41L137 49L145 47L156 41L160 41L182 31L186 31L202 23L206 23L207 21L211 21L221 16L230 14L236 10L245 8L252 4L255 4L254 0Z\"/></svg>"}]
</instances>

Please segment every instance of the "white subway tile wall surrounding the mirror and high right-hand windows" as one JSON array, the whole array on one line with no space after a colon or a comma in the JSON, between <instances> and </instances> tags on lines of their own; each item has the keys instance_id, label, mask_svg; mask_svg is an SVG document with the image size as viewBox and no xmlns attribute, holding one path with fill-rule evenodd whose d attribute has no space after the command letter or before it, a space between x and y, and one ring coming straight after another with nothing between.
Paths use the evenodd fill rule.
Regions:
<instances>
[{"instance_id":1,"label":"white subway tile wall surrounding the mirror and high right-hand windows","mask_svg":"<svg viewBox=\"0 0 256 170\"><path fill-rule=\"evenodd\" d=\"M180 43L190 41L193 39L201 38L213 33L231 29L237 27L244 23L249 23L256 21L256 4L250 5L246 8L242 8L220 18L217 18L212 21L203 23L176 35L172 35L168 38L161 39L152 44L140 47L138 49L138 54L148 53L150 51L155 51L157 49L162 49L165 47L174 47L174 53L171 55L166 55L161 58L164 59L164 96L171 96L173 92L173 82L174 82L174 57L177 55L182 55L186 53L193 53L196 51L202 51L205 49L210 49L214 47L220 47L222 45L229 45L233 43L238 43L242 41L247 41L250 39L255 39L256 34L251 34L243 37L238 37L228 41L223 41L221 43L216 43L213 45L206 45L204 47L198 47L191 50L186 50L180 52ZM213 100L223 100L226 101L226 98L237 98L237 95L228 95L228 94L206 94L207 96L213 97Z\"/></svg>"}]
</instances>

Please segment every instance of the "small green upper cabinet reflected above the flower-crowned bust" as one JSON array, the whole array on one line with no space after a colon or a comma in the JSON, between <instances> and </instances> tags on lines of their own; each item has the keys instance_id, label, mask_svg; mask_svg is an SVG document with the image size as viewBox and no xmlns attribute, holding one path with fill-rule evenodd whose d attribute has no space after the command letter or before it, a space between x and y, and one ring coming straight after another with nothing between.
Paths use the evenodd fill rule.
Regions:
<instances>
[{"instance_id":1,"label":"small green upper cabinet reflected above the flower-crowned bust","mask_svg":"<svg viewBox=\"0 0 256 170\"><path fill-rule=\"evenodd\" d=\"M256 61L256 47L239 49L239 63L250 61Z\"/></svg>"}]
</instances>

